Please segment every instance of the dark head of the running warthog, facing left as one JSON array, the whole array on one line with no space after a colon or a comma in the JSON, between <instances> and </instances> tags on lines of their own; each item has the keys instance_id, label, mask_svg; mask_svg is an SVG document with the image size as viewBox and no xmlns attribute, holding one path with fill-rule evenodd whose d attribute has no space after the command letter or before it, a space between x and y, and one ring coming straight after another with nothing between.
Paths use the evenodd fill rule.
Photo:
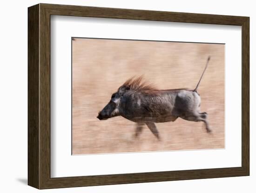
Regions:
<instances>
[{"instance_id":1,"label":"dark head of the running warthog, facing left","mask_svg":"<svg viewBox=\"0 0 256 193\"><path fill-rule=\"evenodd\" d=\"M99 112L97 116L100 120L106 120L108 118L120 115L120 103L124 93L129 90L129 86L122 85L117 92L113 93L108 104Z\"/></svg>"}]
</instances>

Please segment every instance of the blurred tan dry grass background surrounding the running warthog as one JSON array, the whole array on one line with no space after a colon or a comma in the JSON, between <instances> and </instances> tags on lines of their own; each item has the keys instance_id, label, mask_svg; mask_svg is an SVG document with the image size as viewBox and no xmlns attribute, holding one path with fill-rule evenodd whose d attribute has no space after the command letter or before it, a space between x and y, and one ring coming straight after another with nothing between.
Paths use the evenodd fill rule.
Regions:
<instances>
[{"instance_id":1,"label":"blurred tan dry grass background surrounding the running warthog","mask_svg":"<svg viewBox=\"0 0 256 193\"><path fill-rule=\"evenodd\" d=\"M72 44L72 154L224 148L224 45L80 38ZM178 118L156 123L160 142L147 127L135 139L134 122L96 118L112 93L135 75L159 89L194 89L208 56L198 93L212 134L202 122Z\"/></svg>"}]
</instances>

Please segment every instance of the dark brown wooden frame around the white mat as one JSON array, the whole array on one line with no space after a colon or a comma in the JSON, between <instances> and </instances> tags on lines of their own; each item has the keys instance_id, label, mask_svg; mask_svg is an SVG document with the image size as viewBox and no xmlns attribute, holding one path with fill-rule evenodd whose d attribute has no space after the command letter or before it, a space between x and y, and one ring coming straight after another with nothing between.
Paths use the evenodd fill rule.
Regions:
<instances>
[{"instance_id":1,"label":"dark brown wooden frame around the white mat","mask_svg":"<svg viewBox=\"0 0 256 193\"><path fill-rule=\"evenodd\" d=\"M242 167L51 178L50 16L242 26ZM38 4L28 8L28 185L39 189L249 175L249 17Z\"/></svg>"}]
</instances>

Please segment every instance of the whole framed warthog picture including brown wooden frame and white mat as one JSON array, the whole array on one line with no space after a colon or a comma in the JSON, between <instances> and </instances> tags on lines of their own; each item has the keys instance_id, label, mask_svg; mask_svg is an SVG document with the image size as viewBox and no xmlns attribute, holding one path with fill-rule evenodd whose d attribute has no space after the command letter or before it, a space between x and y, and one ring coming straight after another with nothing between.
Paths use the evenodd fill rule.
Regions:
<instances>
[{"instance_id":1,"label":"whole framed warthog picture including brown wooden frame and white mat","mask_svg":"<svg viewBox=\"0 0 256 193\"><path fill-rule=\"evenodd\" d=\"M28 185L249 175L249 17L28 8Z\"/></svg>"}]
</instances>

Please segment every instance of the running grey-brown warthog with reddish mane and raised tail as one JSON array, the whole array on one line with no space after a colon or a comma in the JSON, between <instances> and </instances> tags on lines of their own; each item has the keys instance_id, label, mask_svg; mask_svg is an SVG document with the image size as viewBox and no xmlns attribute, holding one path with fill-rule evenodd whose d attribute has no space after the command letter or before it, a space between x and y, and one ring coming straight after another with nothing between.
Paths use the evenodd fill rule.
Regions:
<instances>
[{"instance_id":1,"label":"running grey-brown warthog with reddish mane and raised tail","mask_svg":"<svg viewBox=\"0 0 256 193\"><path fill-rule=\"evenodd\" d=\"M209 63L207 60L205 69ZM210 132L207 113L200 111L201 97L194 90L175 89L158 90L151 84L142 81L142 77L130 78L112 94L109 103L99 112L100 120L122 116L137 123L135 136L141 133L143 125L160 139L155 123L174 122L178 117L187 121L204 122Z\"/></svg>"}]
</instances>

